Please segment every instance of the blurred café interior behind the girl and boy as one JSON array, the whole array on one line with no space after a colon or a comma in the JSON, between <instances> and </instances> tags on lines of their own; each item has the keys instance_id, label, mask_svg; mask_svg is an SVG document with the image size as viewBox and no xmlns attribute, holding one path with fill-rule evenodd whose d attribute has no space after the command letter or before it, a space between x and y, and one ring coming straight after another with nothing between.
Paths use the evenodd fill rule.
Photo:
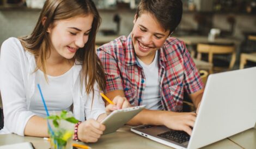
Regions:
<instances>
[{"instance_id":1,"label":"blurred caf\u00e9 interior behind the girl and boy","mask_svg":"<svg viewBox=\"0 0 256 149\"><path fill-rule=\"evenodd\" d=\"M97 46L130 34L139 1L94 0L102 17ZM11 36L31 34L44 2L0 0L0 45ZM172 36L186 43L199 70L215 73L256 66L255 0L182 2L182 21Z\"/></svg>"}]
</instances>

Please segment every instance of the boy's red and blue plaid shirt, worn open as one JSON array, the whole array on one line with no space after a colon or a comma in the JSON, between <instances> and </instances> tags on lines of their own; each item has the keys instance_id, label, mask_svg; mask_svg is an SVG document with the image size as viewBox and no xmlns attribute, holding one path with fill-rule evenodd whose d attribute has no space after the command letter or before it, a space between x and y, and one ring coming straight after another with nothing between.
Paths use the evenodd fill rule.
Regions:
<instances>
[{"instance_id":1,"label":"boy's red and blue plaid shirt, worn open","mask_svg":"<svg viewBox=\"0 0 256 149\"><path fill-rule=\"evenodd\" d=\"M168 38L159 55L161 103L165 110L182 111L184 90L192 94L203 88L200 74L184 42ZM139 65L131 35L119 38L97 49L106 74L106 92L124 90L131 105L140 105L145 90L145 75Z\"/></svg>"}]
</instances>

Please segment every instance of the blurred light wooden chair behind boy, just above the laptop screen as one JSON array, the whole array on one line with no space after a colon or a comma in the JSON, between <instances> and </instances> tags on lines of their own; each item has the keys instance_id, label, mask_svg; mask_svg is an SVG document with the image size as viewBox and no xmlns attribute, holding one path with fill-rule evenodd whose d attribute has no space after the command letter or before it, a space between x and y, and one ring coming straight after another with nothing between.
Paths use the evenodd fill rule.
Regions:
<instances>
[{"instance_id":1,"label":"blurred light wooden chair behind boy, just above the laptop screen","mask_svg":"<svg viewBox=\"0 0 256 149\"><path fill-rule=\"evenodd\" d=\"M214 71L220 72L224 70L231 70L235 64L235 45L234 44L198 44L197 45L197 59L202 59L202 53L208 54L208 61L213 65L209 73ZM223 67L222 61L220 64L215 63L214 55L231 55L230 61L228 61L228 66ZM221 60L221 59L219 59ZM218 66L219 65L219 66Z\"/></svg>"}]
</instances>

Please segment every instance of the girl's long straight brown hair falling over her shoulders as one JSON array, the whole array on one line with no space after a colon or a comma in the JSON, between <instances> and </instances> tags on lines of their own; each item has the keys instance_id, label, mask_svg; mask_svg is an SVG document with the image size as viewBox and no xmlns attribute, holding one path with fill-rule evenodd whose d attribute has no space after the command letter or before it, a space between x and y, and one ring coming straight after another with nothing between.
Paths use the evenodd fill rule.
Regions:
<instances>
[{"instance_id":1,"label":"girl's long straight brown hair falling over her shoulders","mask_svg":"<svg viewBox=\"0 0 256 149\"><path fill-rule=\"evenodd\" d=\"M101 61L95 51L96 32L99 29L101 18L92 0L47 0L32 34L19 39L22 46L38 59L36 70L41 68L46 76L46 53L50 52L52 46L46 32L47 28L53 25L54 21L89 14L94 16L92 30L87 43L77 50L74 59L82 65L81 83L85 83L87 94L92 91L94 95L95 82L98 83L100 90L104 91L106 81ZM42 24L44 17L46 21Z\"/></svg>"}]
</instances>

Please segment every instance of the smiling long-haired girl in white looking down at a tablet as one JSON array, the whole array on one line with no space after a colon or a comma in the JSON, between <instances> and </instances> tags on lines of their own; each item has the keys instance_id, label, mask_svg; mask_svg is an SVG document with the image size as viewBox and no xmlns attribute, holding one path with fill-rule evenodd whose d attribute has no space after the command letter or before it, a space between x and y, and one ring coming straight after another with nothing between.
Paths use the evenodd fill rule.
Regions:
<instances>
[{"instance_id":1,"label":"smiling long-haired girl in white looking down at a tablet","mask_svg":"<svg viewBox=\"0 0 256 149\"><path fill-rule=\"evenodd\" d=\"M48 110L73 111L78 139L96 142L105 129L106 111L129 106L121 97L108 105L99 95L105 76L95 53L100 16L92 0L47 0L33 33L9 38L1 47L0 74L4 109L1 133L48 136ZM85 121L86 117L86 121Z\"/></svg>"}]
</instances>

